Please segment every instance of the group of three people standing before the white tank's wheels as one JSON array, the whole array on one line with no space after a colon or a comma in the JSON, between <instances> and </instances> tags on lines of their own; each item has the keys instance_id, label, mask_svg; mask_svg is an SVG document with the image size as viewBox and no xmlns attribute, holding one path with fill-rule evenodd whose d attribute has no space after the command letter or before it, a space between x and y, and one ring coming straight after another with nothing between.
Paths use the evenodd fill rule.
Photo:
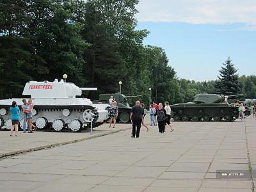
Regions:
<instances>
[{"instance_id":1,"label":"group of three people standing before the white tank's wheels","mask_svg":"<svg viewBox=\"0 0 256 192\"><path fill-rule=\"evenodd\" d=\"M33 129L35 129L35 125L32 124L32 110L34 107L34 104L31 99L27 100L22 99L22 112L23 112L23 132L26 133L27 129L27 124L28 124L28 132L32 133ZM11 120L12 120L12 128L11 128L11 133L10 136L13 136L13 131L15 131L15 136L18 136L18 125L20 122L20 108L17 105L16 101L12 102L12 106L10 107L10 112L12 113L11 115Z\"/></svg>"}]
</instances>

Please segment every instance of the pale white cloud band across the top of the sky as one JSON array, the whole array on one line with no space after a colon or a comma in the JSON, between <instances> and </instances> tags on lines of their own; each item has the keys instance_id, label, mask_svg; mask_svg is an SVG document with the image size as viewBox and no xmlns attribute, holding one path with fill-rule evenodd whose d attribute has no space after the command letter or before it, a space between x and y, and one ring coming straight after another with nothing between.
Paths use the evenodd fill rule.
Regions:
<instances>
[{"instance_id":1,"label":"pale white cloud band across the top of the sky","mask_svg":"<svg viewBox=\"0 0 256 192\"><path fill-rule=\"evenodd\" d=\"M244 23L256 26L255 0L140 0L139 22Z\"/></svg>"}]
</instances>

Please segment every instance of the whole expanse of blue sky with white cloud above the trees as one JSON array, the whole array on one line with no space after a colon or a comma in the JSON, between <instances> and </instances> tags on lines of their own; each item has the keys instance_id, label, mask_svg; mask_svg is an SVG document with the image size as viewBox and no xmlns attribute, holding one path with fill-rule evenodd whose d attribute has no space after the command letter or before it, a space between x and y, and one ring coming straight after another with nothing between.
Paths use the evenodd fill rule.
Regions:
<instances>
[{"instance_id":1,"label":"whole expanse of blue sky with white cloud above the trees","mask_svg":"<svg viewBox=\"0 0 256 192\"><path fill-rule=\"evenodd\" d=\"M163 47L177 77L216 79L228 56L239 74L256 74L256 1L140 0L145 45Z\"/></svg>"}]
</instances>

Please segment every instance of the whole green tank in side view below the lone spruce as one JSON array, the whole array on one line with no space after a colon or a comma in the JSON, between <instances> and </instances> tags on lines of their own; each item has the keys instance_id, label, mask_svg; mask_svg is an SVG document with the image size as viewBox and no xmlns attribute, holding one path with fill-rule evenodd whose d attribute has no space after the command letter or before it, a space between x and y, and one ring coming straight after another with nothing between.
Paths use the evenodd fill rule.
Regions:
<instances>
[{"instance_id":1,"label":"whole green tank in side view below the lone spruce","mask_svg":"<svg viewBox=\"0 0 256 192\"><path fill-rule=\"evenodd\" d=\"M229 99L237 95L216 95L200 93L195 96L193 102L173 104L172 116L174 121L214 121L232 122L238 117L238 108L228 103Z\"/></svg>"}]
</instances>

